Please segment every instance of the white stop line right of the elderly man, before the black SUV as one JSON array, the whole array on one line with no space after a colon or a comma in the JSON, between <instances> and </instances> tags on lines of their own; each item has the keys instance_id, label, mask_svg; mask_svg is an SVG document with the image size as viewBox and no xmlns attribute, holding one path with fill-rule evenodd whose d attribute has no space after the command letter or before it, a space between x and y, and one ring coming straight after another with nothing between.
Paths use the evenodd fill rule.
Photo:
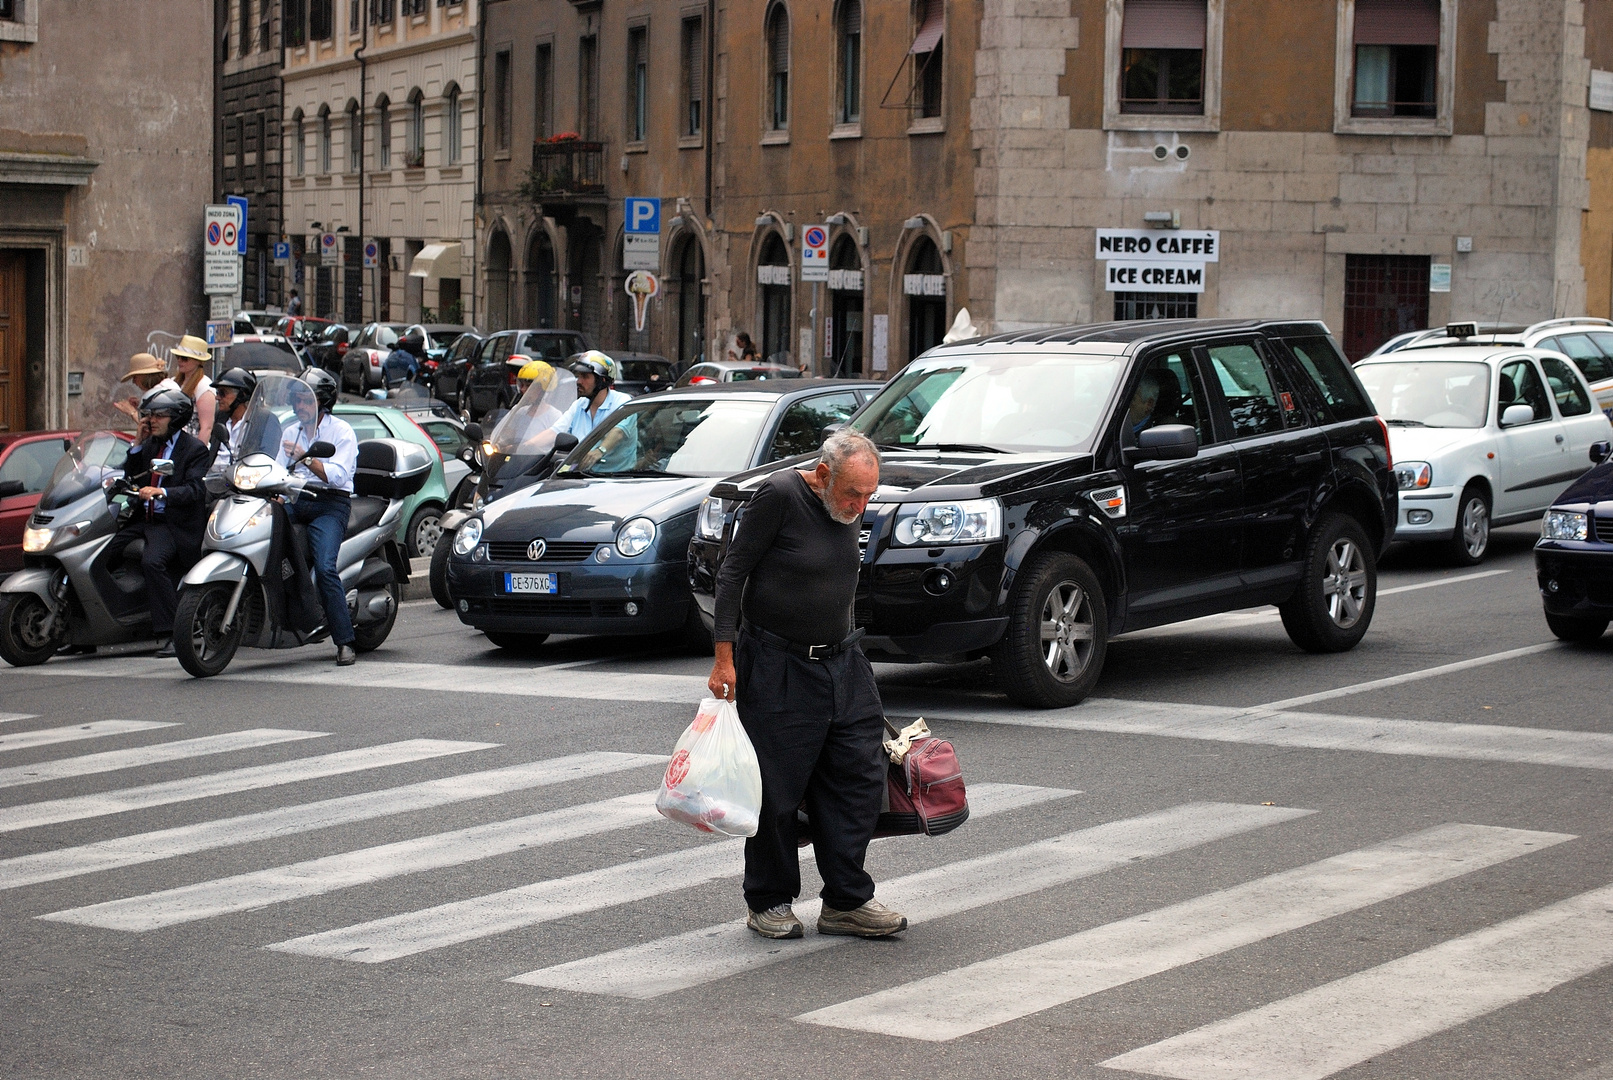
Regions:
<instances>
[{"instance_id":1,"label":"white stop line right of the elderly man, before the black SUV","mask_svg":"<svg viewBox=\"0 0 1613 1080\"><path fill-rule=\"evenodd\" d=\"M1052 727L1071 732L1200 738L1257 746L1347 750L1457 761L1613 769L1613 735L1500 724L1390 721L1326 712L1253 712L1215 704L1087 698L1073 709L998 709L971 716L926 709L931 721Z\"/></svg>"}]
</instances>

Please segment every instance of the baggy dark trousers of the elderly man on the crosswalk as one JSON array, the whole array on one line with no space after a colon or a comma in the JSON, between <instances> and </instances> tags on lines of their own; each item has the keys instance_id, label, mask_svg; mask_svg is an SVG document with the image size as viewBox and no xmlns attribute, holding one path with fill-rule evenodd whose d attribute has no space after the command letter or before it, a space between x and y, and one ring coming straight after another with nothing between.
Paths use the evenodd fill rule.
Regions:
<instances>
[{"instance_id":1,"label":"baggy dark trousers of the elderly man on the crosswalk","mask_svg":"<svg viewBox=\"0 0 1613 1080\"><path fill-rule=\"evenodd\" d=\"M886 787L884 706L861 650L792 656L744 630L734 648L739 719L761 764L761 822L745 841L745 904L766 911L802 891L795 811L805 800L823 903L874 898L863 869Z\"/></svg>"}]
</instances>

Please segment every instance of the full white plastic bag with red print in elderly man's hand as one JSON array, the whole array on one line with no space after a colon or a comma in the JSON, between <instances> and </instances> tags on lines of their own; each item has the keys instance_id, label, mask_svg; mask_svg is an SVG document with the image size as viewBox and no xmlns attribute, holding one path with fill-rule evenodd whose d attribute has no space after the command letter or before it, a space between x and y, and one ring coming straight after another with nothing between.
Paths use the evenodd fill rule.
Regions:
<instances>
[{"instance_id":1,"label":"full white plastic bag with red print in elderly man's hand","mask_svg":"<svg viewBox=\"0 0 1613 1080\"><path fill-rule=\"evenodd\" d=\"M700 832L756 835L761 767L732 701L700 703L694 724L673 748L655 809Z\"/></svg>"}]
</instances>

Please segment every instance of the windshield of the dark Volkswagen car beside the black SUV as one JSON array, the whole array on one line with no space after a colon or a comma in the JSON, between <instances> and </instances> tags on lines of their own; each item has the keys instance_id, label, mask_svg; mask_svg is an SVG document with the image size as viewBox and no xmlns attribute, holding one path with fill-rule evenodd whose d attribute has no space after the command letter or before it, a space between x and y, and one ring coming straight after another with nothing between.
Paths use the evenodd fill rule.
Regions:
<instances>
[{"instance_id":1,"label":"windshield of the dark Volkswagen car beside the black SUV","mask_svg":"<svg viewBox=\"0 0 1613 1080\"><path fill-rule=\"evenodd\" d=\"M561 472L727 476L750 467L771 401L682 398L627 405L582 440Z\"/></svg>"}]
</instances>

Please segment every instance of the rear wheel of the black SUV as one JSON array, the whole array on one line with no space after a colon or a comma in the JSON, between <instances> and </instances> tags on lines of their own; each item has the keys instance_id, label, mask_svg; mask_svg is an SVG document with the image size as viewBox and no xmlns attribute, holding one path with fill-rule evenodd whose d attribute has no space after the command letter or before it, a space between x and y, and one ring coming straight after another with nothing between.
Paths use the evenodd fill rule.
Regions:
<instances>
[{"instance_id":1,"label":"rear wheel of the black SUV","mask_svg":"<svg viewBox=\"0 0 1613 1080\"><path fill-rule=\"evenodd\" d=\"M1282 629L1307 653L1344 653L1366 635L1378 604L1378 558L1360 522L1326 514L1311 530L1300 585L1277 604Z\"/></svg>"}]
</instances>

